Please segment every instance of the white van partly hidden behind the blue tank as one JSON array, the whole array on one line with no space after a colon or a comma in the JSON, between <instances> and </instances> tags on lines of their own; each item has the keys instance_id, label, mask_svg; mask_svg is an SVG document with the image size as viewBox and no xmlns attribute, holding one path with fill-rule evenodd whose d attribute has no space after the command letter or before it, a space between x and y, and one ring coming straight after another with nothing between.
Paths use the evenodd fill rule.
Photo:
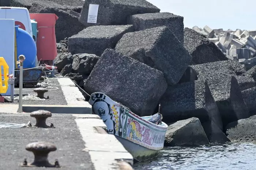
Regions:
<instances>
[{"instance_id":1,"label":"white van partly hidden behind the blue tank","mask_svg":"<svg viewBox=\"0 0 256 170\"><path fill-rule=\"evenodd\" d=\"M21 7L0 7L0 19L14 19L15 25L27 31L31 37L32 26L27 8Z\"/></svg>"}]
</instances>

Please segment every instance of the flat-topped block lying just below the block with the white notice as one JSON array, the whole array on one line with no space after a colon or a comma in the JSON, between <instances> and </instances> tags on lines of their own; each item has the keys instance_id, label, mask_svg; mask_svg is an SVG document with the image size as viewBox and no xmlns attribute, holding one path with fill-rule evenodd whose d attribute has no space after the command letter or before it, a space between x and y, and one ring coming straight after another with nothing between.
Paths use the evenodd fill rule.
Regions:
<instances>
[{"instance_id":1,"label":"flat-topped block lying just below the block with the white notice","mask_svg":"<svg viewBox=\"0 0 256 170\"><path fill-rule=\"evenodd\" d=\"M68 38L68 50L71 54L101 54L107 48L114 48L121 37L133 32L132 25L98 25L83 29Z\"/></svg>"}]
</instances>

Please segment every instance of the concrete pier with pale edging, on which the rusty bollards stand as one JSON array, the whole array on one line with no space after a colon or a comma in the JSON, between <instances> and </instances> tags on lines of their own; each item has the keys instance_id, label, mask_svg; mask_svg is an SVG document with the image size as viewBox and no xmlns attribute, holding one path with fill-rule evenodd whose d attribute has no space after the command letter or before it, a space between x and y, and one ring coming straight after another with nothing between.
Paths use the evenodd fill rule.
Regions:
<instances>
[{"instance_id":1,"label":"concrete pier with pale edging, on which the rusty bollards stand","mask_svg":"<svg viewBox=\"0 0 256 170\"><path fill-rule=\"evenodd\" d=\"M23 113L18 113L18 102L0 104L0 122L30 123L35 125L35 118L30 117L34 110L50 110L52 117L46 124L55 128L2 128L0 129L1 167L7 169L35 169L21 167L23 159L33 162L34 155L25 149L31 142L46 141L56 145L57 150L48 156L50 163L58 159L62 169L122 169L121 162L133 165L133 157L124 149L114 135L106 133L106 125L98 115L91 114L91 105L85 101L78 87L69 78L53 79L59 90L45 93L46 100L24 100ZM16 89L16 88L15 88ZM25 89L27 90L27 89ZM33 93L24 91L23 94ZM17 94L17 91L15 91ZM53 96L58 100L53 99ZM48 100L48 101L47 101ZM52 100L52 101L51 101ZM63 100L61 102L54 101ZM47 104L45 104L47 103ZM26 111L25 111L26 110ZM3 162L2 162L3 161ZM43 168L36 168L43 169ZM132 167L130 167L132 169Z\"/></svg>"}]
</instances>

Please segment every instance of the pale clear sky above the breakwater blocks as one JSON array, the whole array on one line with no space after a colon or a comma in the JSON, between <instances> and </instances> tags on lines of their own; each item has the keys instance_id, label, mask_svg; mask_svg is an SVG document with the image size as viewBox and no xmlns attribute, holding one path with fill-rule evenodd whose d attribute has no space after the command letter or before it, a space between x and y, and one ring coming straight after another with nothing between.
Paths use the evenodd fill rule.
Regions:
<instances>
[{"instance_id":1,"label":"pale clear sky above the breakwater blocks","mask_svg":"<svg viewBox=\"0 0 256 170\"><path fill-rule=\"evenodd\" d=\"M256 30L255 0L147 0L160 12L184 17L184 27Z\"/></svg>"}]
</instances>

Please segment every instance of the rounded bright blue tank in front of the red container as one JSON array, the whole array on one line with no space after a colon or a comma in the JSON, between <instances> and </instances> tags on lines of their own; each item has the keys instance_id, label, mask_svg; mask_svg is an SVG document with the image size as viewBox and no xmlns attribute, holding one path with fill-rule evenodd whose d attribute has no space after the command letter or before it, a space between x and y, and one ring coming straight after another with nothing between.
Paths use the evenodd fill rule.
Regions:
<instances>
[{"instance_id":1,"label":"rounded bright blue tank in front of the red container","mask_svg":"<svg viewBox=\"0 0 256 170\"><path fill-rule=\"evenodd\" d=\"M28 32L16 26L15 26L15 31L16 31L17 61L19 60L19 55L24 55L26 59L23 63L23 68L36 67L37 47L35 45L35 41L33 37L31 37Z\"/></svg>"}]
</instances>

